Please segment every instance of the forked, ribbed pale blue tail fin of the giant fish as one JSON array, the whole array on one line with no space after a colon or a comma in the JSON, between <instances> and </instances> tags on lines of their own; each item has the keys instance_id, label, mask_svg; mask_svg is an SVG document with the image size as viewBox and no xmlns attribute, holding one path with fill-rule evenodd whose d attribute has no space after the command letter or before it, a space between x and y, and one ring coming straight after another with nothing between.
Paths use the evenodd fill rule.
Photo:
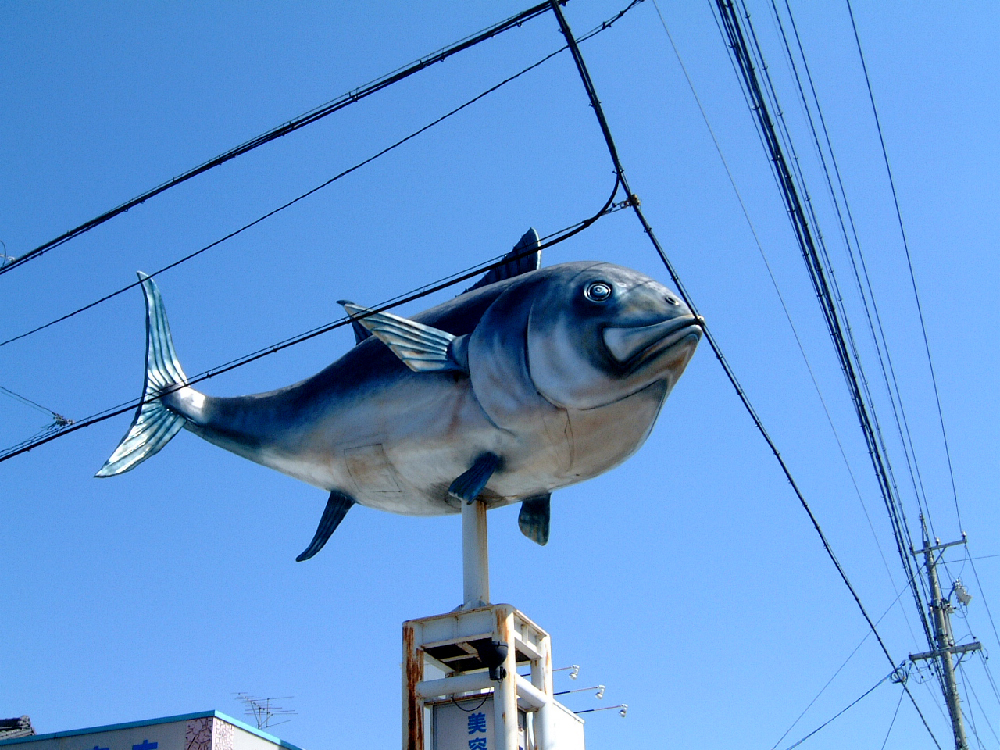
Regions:
<instances>
[{"instance_id":1,"label":"forked, ribbed pale blue tail fin of the giant fish","mask_svg":"<svg viewBox=\"0 0 1000 750\"><path fill-rule=\"evenodd\" d=\"M138 275L146 299L146 385L132 425L95 475L98 477L113 477L134 469L170 442L185 421L161 399L165 392L187 384L187 376L174 352L163 299L152 278L142 271Z\"/></svg>"}]
</instances>

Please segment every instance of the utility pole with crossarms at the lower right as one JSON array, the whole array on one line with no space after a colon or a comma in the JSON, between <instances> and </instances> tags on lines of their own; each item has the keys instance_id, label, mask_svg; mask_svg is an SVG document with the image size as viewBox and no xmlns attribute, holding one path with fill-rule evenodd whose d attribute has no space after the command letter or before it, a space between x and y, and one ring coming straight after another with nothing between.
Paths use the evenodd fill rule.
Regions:
<instances>
[{"instance_id":1,"label":"utility pole with crossarms at the lower right","mask_svg":"<svg viewBox=\"0 0 1000 750\"><path fill-rule=\"evenodd\" d=\"M948 704L948 713L951 716L951 730L955 735L955 750L969 750L969 743L965 739L965 723L962 720L962 701L958 694L958 684L955 682L955 663L952 657L955 654L978 651L982 648L982 645L979 641L973 641L964 646L955 645L955 637L951 630L951 613L955 611L955 608L950 601L950 592L947 599L941 595L941 584L938 581L937 575L939 556L935 554L938 550L944 550L958 544L965 544L965 532L962 532L962 538L957 542L941 544L941 540L935 538L932 545L923 514L920 515L920 525L923 528L923 549L915 550L911 547L910 553L914 557L923 555L924 566L927 568L927 581L931 590L931 618L934 621L934 650L921 654L910 654L910 661L917 662L923 659L939 660L942 677L944 678L944 685L942 686L944 689L944 699L945 703ZM958 588L958 586L955 587L956 590ZM962 589L959 596L965 597L963 603L968 601L968 594L964 592L964 589Z\"/></svg>"}]
</instances>

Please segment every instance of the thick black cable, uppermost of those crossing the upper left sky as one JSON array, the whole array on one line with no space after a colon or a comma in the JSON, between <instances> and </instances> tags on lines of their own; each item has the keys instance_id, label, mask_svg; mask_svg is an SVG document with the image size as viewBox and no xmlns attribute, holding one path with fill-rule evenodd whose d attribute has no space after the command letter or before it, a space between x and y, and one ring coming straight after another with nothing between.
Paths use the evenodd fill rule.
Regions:
<instances>
[{"instance_id":1,"label":"thick black cable, uppermost of those crossing the upper left sky","mask_svg":"<svg viewBox=\"0 0 1000 750\"><path fill-rule=\"evenodd\" d=\"M568 0L561 0L561 2L568 2ZM424 70L425 68L429 68L431 65L439 63L443 60L447 60L449 57L458 52L469 49L470 47L474 47L480 42L484 42L487 39L491 39L492 37L497 36L498 34L502 34L505 31L517 28L521 26L525 21L528 21L544 13L548 9L548 7L549 5L547 2L539 3L538 5L532 8L528 8L527 10L522 11L517 15L511 16L505 21L501 21L500 23L494 24L493 26L483 29L482 31L473 34L472 36L468 36L465 39L462 39L448 47L444 47L443 49L440 49L437 52L422 57L419 60L416 60L415 62L411 63L410 65L398 68L397 70L388 73L382 76L381 78L377 78L374 81L365 84L364 86L356 88L352 91L348 91L346 94L341 95L337 99L333 99L332 101L329 101L326 104L322 104L314 109L311 109L310 111L302 115L299 115L298 117L289 120L288 122L279 125L276 128L272 128L266 133L262 133L261 135L258 135L255 138L251 138L249 141L241 143L239 146L231 148L225 153L219 154L213 159L209 159L204 164L200 164L199 166L194 167L193 169L189 169L188 171L183 172L177 175L176 177L158 185L152 190L147 190L145 193L137 195L135 198L132 198L131 200L126 201L125 203L122 203L120 206L113 208L110 211L106 211L100 216L96 216L90 221L84 222L80 226L71 229L68 232L64 232L55 239L49 240L48 242L39 245L34 250L30 250L24 255L7 262L5 265L0 265L0 275L3 275L9 271L13 271L15 268L18 268L24 265L25 263L34 260L35 258L38 258L41 255L47 253L49 250L52 250L53 248L56 248L59 245L68 242L74 237L79 237L81 234L85 232L89 232L94 227L100 226L104 222L113 219L114 217L120 214L125 213L129 209L135 208L141 203L145 203L150 198L159 195L160 193L169 190L172 187L180 185L182 182L190 180L192 177L207 172L208 170L213 169L219 166L220 164L225 164L226 162L235 159L237 156L241 156L242 154L248 153L249 151L253 151L255 148L263 146L265 143L270 143L271 141L277 138L281 138L284 135L288 135L289 133L292 133L296 130L299 130L300 128L305 127L306 125L310 125L318 120L321 120L327 115L331 115L334 112L337 112L347 106L350 106L351 104L355 104L364 99L365 97L368 97L378 91L381 91L382 89L387 88L388 86L391 86L394 83L398 83L399 81L402 81L404 78L408 78L414 73Z\"/></svg>"}]
</instances>

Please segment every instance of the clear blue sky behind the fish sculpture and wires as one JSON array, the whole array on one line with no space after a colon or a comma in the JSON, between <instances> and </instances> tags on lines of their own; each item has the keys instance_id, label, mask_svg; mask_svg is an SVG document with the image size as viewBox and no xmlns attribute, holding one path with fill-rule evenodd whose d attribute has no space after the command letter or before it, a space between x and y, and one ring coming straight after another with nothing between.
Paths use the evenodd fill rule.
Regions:
<instances>
[{"instance_id":1,"label":"clear blue sky behind the fish sculpture and wires","mask_svg":"<svg viewBox=\"0 0 1000 750\"><path fill-rule=\"evenodd\" d=\"M910 521L917 505L850 265L770 4L749 3L820 214ZM619 4L572 0L582 33ZM313 106L521 9L510 3L4 3L0 240L20 255ZM705 3L663 2L803 340L851 480L774 287L652 3L584 48L635 192L879 624L896 661L926 649L829 337L726 49ZM847 7L793 3L875 288L935 531L974 595L956 635L1000 652L996 512L995 7L862 3L858 31L882 117L950 440L962 526L909 273ZM783 11L784 13L784 11ZM90 302L367 158L556 49L543 17L135 208L0 277L0 336ZM612 169L567 55L373 165L160 278L188 373L334 320L593 213ZM667 281L621 212L544 262L609 260ZM447 295L438 295L443 299ZM431 301L427 301L430 304ZM423 305L403 308L415 312ZM0 348L0 385L80 419L139 395L143 312L132 290ZM351 344L339 330L203 384L286 385ZM294 696L275 731L307 750L396 747L400 624L455 607L459 520L359 508L315 559L322 492L179 435L97 480L121 416L0 465L0 715L40 732L218 709L236 691ZM11 445L46 418L0 397ZM859 502L859 494L867 507ZM702 345L645 447L557 493L542 549L516 507L491 514L495 601L553 637L557 666L608 686L588 746L775 745L867 627L798 501ZM884 557L883 557L884 556ZM891 571L891 577L890 572ZM984 596L985 594L985 596ZM895 606L893 606L896 601ZM869 637L781 743L889 670ZM926 676L926 675L925 675ZM978 659L963 696L973 747L1000 745ZM942 747L933 683L912 690ZM966 688L968 687L968 689ZM973 696L973 691L975 696ZM804 747L881 746L900 690L883 685ZM601 705L571 696L577 709ZM985 712L985 713L984 713ZM991 726L988 725L987 720ZM971 734L971 729L970 729ZM933 743L908 701L888 748Z\"/></svg>"}]
</instances>

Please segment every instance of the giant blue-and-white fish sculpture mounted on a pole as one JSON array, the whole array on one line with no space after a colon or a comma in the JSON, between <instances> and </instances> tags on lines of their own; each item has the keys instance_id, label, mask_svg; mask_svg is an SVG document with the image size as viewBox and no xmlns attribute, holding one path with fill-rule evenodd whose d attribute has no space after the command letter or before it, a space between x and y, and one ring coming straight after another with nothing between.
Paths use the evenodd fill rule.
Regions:
<instances>
[{"instance_id":1,"label":"giant blue-and-white fish sculpture mounted on a pole","mask_svg":"<svg viewBox=\"0 0 1000 750\"><path fill-rule=\"evenodd\" d=\"M300 383L237 398L187 385L159 290L140 273L143 403L97 476L134 468L183 427L330 493L299 561L355 503L440 515L520 502L521 531L545 544L552 491L642 445L704 323L641 273L540 269L537 248L529 230L475 286L413 319L341 302L353 349Z\"/></svg>"}]
</instances>

